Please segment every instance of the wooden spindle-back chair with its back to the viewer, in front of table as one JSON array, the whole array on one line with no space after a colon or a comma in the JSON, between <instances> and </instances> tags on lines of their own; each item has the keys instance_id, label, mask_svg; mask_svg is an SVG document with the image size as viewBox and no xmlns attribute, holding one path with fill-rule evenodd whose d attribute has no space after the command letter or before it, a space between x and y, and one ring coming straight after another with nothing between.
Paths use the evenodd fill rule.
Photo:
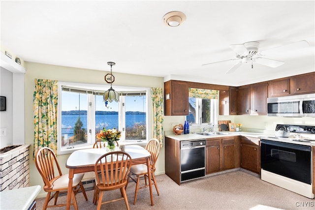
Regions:
<instances>
[{"instance_id":1,"label":"wooden spindle-back chair with its back to the viewer, in front of table","mask_svg":"<svg viewBox=\"0 0 315 210\"><path fill-rule=\"evenodd\" d=\"M126 208L129 210L125 186L131 162L130 155L124 151L108 152L97 159L94 166L97 210L100 210L102 204L119 200L125 200ZM102 202L103 192L115 189L120 189L123 198Z\"/></svg>"}]
</instances>

